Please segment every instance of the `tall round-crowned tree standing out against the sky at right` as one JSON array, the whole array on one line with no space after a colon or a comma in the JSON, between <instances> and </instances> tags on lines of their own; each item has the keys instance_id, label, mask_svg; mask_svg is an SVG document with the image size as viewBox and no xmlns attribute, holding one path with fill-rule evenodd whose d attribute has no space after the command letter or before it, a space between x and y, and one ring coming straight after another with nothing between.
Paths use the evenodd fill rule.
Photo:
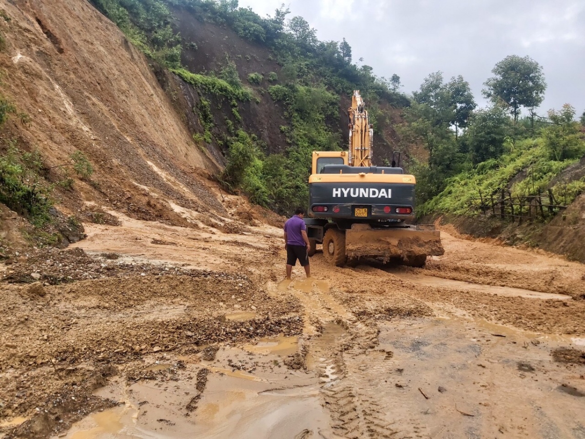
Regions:
<instances>
[{"instance_id":1,"label":"tall round-crowned tree standing out against the sky at right","mask_svg":"<svg viewBox=\"0 0 585 439\"><path fill-rule=\"evenodd\" d=\"M504 101L510 107L514 122L518 121L520 108L536 108L543 98L546 82L542 67L529 56L505 57L491 71L495 76L484 85L483 95L497 102Z\"/></svg>"}]
</instances>

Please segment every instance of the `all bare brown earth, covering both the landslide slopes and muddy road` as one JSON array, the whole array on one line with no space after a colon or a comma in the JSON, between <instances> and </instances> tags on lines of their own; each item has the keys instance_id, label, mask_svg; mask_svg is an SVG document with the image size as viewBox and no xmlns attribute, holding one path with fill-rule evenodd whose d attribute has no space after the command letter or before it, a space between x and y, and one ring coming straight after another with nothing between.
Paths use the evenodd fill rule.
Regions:
<instances>
[{"instance_id":1,"label":"all bare brown earth, covering both the landslide slopes and muddy road","mask_svg":"<svg viewBox=\"0 0 585 439\"><path fill-rule=\"evenodd\" d=\"M445 228L422 269L318 249L312 279L283 280L283 218L219 190L221 148L175 112L196 90L87 2L2 8L0 88L32 119L6 132L53 183L75 150L95 174L55 191L70 248L30 248L0 206L0 438L584 437L583 265ZM280 73L181 19L185 62ZM282 150L259 90L243 123Z\"/></svg>"}]
</instances>

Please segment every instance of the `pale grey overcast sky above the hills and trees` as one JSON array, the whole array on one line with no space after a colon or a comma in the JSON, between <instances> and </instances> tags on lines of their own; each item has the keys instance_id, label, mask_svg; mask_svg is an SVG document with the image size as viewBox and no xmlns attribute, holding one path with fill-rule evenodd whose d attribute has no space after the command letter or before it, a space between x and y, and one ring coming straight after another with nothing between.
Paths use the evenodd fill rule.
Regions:
<instances>
[{"instance_id":1,"label":"pale grey overcast sky above the hills and trees","mask_svg":"<svg viewBox=\"0 0 585 439\"><path fill-rule=\"evenodd\" d=\"M239 0L261 16L283 0ZM543 67L548 87L539 114L568 102L585 110L584 0L289 0L320 40L346 38L353 61L377 76L400 76L402 91L442 71L462 75L476 101L491 69L504 57L528 55Z\"/></svg>"}]
</instances>

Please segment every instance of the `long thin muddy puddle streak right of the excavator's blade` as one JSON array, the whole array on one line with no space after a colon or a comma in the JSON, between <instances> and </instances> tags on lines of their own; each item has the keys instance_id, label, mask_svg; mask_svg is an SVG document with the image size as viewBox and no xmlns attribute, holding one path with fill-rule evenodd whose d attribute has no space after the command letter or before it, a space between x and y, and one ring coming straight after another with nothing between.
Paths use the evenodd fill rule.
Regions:
<instances>
[{"instance_id":1,"label":"long thin muddy puddle streak right of the excavator's blade","mask_svg":"<svg viewBox=\"0 0 585 439\"><path fill-rule=\"evenodd\" d=\"M456 290L477 291L479 293L497 294L506 297L528 297L530 299L569 300L566 294L541 293L539 291L523 290L519 288L501 287L478 283L463 282L460 280L443 279L442 277L419 275L398 270L389 270L395 276L404 280L429 287L443 287Z\"/></svg>"}]
</instances>

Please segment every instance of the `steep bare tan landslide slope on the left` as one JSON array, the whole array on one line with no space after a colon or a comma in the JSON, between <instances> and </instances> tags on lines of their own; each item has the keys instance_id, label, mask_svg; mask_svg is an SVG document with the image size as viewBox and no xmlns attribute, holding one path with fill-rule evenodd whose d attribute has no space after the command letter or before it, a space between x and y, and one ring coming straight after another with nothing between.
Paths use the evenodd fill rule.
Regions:
<instances>
[{"instance_id":1,"label":"steep bare tan landslide slope on the left","mask_svg":"<svg viewBox=\"0 0 585 439\"><path fill-rule=\"evenodd\" d=\"M109 19L84 0L16 0L2 8L0 89L30 117L9 120L2 149L12 141L38 150L53 183L74 177L76 150L95 169L73 188L56 186L62 210L85 219L81 212L104 205L182 225L180 207L169 201L225 213L202 178L218 163L197 148L146 57Z\"/></svg>"}]
</instances>

